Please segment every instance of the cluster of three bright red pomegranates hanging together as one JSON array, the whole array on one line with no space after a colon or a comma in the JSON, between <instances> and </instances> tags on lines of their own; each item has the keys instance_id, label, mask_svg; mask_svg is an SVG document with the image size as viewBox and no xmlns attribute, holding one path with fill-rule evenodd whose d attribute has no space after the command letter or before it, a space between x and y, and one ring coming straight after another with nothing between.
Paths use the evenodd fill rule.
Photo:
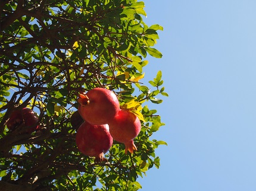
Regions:
<instances>
[{"instance_id":1,"label":"cluster of three bright red pomegranates hanging together","mask_svg":"<svg viewBox=\"0 0 256 191\"><path fill-rule=\"evenodd\" d=\"M93 88L86 94L79 94L78 102L78 111L85 120L76 134L80 152L102 161L113 139L125 145L126 154L137 150L133 139L141 131L141 122L135 114L120 109L113 91Z\"/></svg>"}]
</instances>

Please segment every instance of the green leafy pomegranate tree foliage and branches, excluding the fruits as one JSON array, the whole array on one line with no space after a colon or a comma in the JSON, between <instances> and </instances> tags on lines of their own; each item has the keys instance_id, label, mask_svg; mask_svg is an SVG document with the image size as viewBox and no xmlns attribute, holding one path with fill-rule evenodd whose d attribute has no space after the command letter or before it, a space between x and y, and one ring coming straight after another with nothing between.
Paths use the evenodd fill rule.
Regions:
<instances>
[{"instance_id":1,"label":"green leafy pomegranate tree foliage and branches, excluding the fruits","mask_svg":"<svg viewBox=\"0 0 256 191\"><path fill-rule=\"evenodd\" d=\"M138 190L138 176L160 166L155 149L166 142L149 138L164 123L145 101L160 104L157 96L168 94L161 71L152 87L140 80L146 56L162 56L152 46L163 27L147 26L143 7L136 0L0 1L2 189ZM125 155L114 142L107 161L96 163L78 151L70 116L77 93L95 87L113 90L141 119L135 153ZM35 110L42 130L8 131L17 107Z\"/></svg>"}]
</instances>

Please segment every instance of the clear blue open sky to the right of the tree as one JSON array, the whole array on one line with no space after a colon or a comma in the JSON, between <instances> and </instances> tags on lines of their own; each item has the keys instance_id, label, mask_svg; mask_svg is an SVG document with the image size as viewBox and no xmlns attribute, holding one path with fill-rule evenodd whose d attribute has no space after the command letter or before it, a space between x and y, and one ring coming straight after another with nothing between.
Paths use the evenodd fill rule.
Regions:
<instances>
[{"instance_id":1,"label":"clear blue open sky to the right of the tree","mask_svg":"<svg viewBox=\"0 0 256 191\"><path fill-rule=\"evenodd\" d=\"M155 107L160 169L142 190L256 190L256 1L144 1L160 24L144 81L160 69L169 97Z\"/></svg>"}]
</instances>

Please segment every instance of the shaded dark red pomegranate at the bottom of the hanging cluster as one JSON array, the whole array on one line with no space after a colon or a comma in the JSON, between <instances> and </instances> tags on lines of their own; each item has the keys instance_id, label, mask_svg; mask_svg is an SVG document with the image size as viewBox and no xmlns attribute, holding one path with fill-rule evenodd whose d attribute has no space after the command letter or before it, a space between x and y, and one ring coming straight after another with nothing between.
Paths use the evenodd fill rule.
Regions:
<instances>
[{"instance_id":1,"label":"shaded dark red pomegranate at the bottom of the hanging cluster","mask_svg":"<svg viewBox=\"0 0 256 191\"><path fill-rule=\"evenodd\" d=\"M104 154L113 144L108 125L90 125L84 122L76 133L76 145L80 152L89 157L96 157L95 161L104 160Z\"/></svg>"}]
</instances>

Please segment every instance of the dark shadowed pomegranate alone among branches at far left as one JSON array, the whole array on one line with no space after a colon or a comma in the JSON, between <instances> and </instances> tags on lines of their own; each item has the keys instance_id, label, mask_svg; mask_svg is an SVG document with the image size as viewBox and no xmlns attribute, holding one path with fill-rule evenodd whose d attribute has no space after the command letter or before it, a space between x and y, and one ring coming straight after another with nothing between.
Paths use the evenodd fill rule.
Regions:
<instances>
[{"instance_id":1,"label":"dark shadowed pomegranate alone among branches at far left","mask_svg":"<svg viewBox=\"0 0 256 191\"><path fill-rule=\"evenodd\" d=\"M35 112L29 108L23 108L14 110L6 123L7 128L10 130L15 130L17 126L23 125L24 127L29 127L27 129L27 133L32 133L38 126L38 116L36 116Z\"/></svg>"}]
</instances>

